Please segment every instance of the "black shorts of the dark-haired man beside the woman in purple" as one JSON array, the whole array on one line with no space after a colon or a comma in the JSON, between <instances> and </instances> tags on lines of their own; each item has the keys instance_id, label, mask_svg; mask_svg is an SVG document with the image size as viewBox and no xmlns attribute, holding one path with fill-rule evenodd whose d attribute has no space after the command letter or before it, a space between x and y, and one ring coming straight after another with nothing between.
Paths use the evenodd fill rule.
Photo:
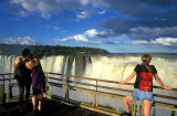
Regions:
<instances>
[{"instance_id":1,"label":"black shorts of the dark-haired man beside the woman in purple","mask_svg":"<svg viewBox=\"0 0 177 116\"><path fill-rule=\"evenodd\" d=\"M32 78L31 77L22 77L18 80L19 86L31 86Z\"/></svg>"}]
</instances>

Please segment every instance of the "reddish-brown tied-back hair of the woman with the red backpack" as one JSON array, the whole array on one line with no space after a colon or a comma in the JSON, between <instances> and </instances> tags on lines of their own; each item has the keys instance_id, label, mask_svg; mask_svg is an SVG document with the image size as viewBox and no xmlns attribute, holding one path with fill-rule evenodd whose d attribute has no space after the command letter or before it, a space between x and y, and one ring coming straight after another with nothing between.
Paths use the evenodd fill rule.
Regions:
<instances>
[{"instance_id":1,"label":"reddish-brown tied-back hair of the woman with the red backpack","mask_svg":"<svg viewBox=\"0 0 177 116\"><path fill-rule=\"evenodd\" d=\"M150 54L144 54L142 55L142 62L143 62L143 65L149 71L149 73L153 73L150 66L148 65L152 61L152 55ZM144 62L147 63L147 65L144 64Z\"/></svg>"}]
</instances>

